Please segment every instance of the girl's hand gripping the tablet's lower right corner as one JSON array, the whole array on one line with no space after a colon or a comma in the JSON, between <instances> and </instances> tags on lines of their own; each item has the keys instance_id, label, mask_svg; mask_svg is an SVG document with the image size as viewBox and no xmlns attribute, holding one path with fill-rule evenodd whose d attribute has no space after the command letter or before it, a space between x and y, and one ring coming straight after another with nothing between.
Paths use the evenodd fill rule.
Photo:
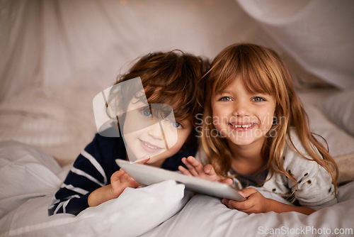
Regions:
<instances>
[{"instance_id":1,"label":"girl's hand gripping the tablet's lower right corner","mask_svg":"<svg viewBox=\"0 0 354 237\"><path fill-rule=\"evenodd\" d=\"M269 200L252 187L242 189L239 191L246 201L234 201L229 199L222 199L222 203L228 206L230 209L237 209L244 211L246 214L263 213L268 211Z\"/></svg>"}]
</instances>

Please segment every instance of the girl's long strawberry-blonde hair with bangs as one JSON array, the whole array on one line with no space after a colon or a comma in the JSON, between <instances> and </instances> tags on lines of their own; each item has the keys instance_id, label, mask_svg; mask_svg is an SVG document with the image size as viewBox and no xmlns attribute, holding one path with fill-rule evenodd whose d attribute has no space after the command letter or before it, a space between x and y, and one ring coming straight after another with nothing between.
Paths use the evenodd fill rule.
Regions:
<instances>
[{"instance_id":1,"label":"girl's long strawberry-blonde hair with bangs","mask_svg":"<svg viewBox=\"0 0 354 237\"><path fill-rule=\"evenodd\" d=\"M329 155L328 148L324 148L324 145L319 143L309 130L307 114L297 98L285 63L275 51L250 43L234 44L222 50L215 57L210 70L204 77L203 82L207 94L205 95L201 143L217 174L229 177L227 172L231 169L232 154L227 141L221 136L215 136L216 128L212 123L207 123L207 120L212 118L212 97L223 92L232 84L236 76L243 79L249 92L270 94L276 101L277 123L268 132L271 134L266 136L262 148L263 158L268 159L264 169L270 170L272 175L274 173L286 175L297 184L295 177L282 165L282 152L287 142L286 135L293 127L308 155L331 175L336 193L338 167ZM288 138L292 145L290 147L295 148L291 136ZM316 152L316 149L321 155ZM299 150L296 148L295 150L306 158Z\"/></svg>"}]
</instances>

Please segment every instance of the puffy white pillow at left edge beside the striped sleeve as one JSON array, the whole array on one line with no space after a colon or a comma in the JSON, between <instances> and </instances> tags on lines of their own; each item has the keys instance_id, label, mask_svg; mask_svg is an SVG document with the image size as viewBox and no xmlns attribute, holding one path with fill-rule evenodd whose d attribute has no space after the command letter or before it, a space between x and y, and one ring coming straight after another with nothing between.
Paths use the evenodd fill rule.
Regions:
<instances>
[{"instance_id":1,"label":"puffy white pillow at left edge beside the striped sleeve","mask_svg":"<svg viewBox=\"0 0 354 237\"><path fill-rule=\"evenodd\" d=\"M17 142L0 142L0 218L28 199L52 194L62 170L43 150Z\"/></svg>"}]
</instances>

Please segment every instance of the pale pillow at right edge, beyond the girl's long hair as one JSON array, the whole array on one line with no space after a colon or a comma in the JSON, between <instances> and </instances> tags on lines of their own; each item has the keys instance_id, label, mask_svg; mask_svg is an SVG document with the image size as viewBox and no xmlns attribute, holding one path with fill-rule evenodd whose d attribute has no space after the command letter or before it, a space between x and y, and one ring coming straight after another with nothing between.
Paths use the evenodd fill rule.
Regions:
<instances>
[{"instance_id":1,"label":"pale pillow at right edge, beyond the girl's long hair","mask_svg":"<svg viewBox=\"0 0 354 237\"><path fill-rule=\"evenodd\" d=\"M354 136L354 89L329 97L319 106L333 123Z\"/></svg>"}]
</instances>

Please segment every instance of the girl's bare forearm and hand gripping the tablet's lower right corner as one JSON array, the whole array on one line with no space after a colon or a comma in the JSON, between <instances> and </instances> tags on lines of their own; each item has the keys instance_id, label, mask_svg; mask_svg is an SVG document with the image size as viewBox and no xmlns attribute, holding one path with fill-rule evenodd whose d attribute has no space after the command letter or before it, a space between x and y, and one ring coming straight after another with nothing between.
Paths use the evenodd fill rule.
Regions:
<instances>
[{"instance_id":1,"label":"girl's bare forearm and hand gripping the tablet's lower right corner","mask_svg":"<svg viewBox=\"0 0 354 237\"><path fill-rule=\"evenodd\" d=\"M228 206L230 209L244 211L246 214L264 213L268 211L275 211L277 213L296 211L305 215L309 215L315 211L314 209L311 209L307 206L291 206L275 201L273 199L265 198L260 192L251 187L242 189L239 191L239 193L243 197L246 197L246 201L237 202L234 200L222 199L222 203Z\"/></svg>"}]
</instances>

